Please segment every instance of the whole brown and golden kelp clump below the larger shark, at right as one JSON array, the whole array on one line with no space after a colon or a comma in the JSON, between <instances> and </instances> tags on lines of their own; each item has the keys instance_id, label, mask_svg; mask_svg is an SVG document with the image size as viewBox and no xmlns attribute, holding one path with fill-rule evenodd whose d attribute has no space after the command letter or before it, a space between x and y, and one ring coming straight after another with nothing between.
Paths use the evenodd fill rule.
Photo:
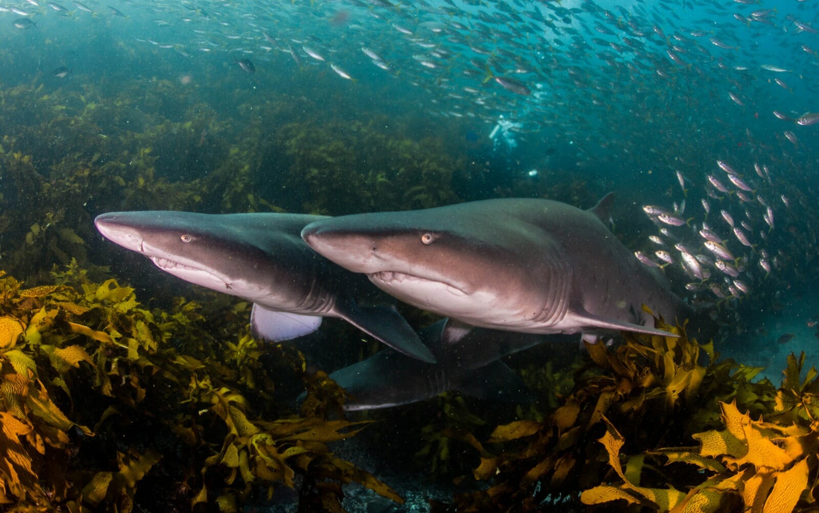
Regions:
<instances>
[{"instance_id":1,"label":"whole brown and golden kelp clump below the larger shark, at right","mask_svg":"<svg viewBox=\"0 0 819 513\"><path fill-rule=\"evenodd\" d=\"M751 381L758 368L717 361L713 344L689 339L682 326L661 318L655 324L679 337L623 334L615 349L586 344L589 362L577 367L559 407L547 415L519 410L532 420L499 425L484 442L462 438L480 456L474 479L489 486L459 493L441 511L541 511L557 497L609 509L734 511L743 493L755 501L745 506L760 508L753 511L763 511L766 500L778 506L764 511L785 511L794 497L809 497L816 412L806 405L817 372L799 381L803 358L791 358L776 390L768 380ZM751 420L738 407L765 411L769 421ZM705 441L699 451L686 447L695 438ZM751 478L767 488L743 492Z\"/></svg>"}]
</instances>

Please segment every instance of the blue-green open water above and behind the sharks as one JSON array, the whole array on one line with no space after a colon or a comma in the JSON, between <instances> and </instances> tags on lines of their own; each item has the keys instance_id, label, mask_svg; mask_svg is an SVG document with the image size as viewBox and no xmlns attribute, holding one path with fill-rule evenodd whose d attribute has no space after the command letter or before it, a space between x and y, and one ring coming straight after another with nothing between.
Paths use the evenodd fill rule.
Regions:
<instances>
[{"instance_id":1,"label":"blue-green open water above and behind the sharks","mask_svg":"<svg viewBox=\"0 0 819 513\"><path fill-rule=\"evenodd\" d=\"M181 126L207 112L208 124L188 128L194 134L185 158L168 134L146 142L157 157L156 176L172 184L205 179L239 158L230 148L242 148L256 199L298 211L316 204L310 194L320 189L309 188L306 178L303 187L283 180L278 153L269 148L285 125L332 126L342 140L347 130L365 128L436 143L460 201L545 196L590 207L614 191L614 233L658 263L649 236L663 239L675 261L663 272L678 294L713 311L723 356L766 366L775 383L788 353L804 350L809 365L819 359L816 328L808 325L819 320L816 2L81 4L93 12L66 0L38 3L0 0L0 136L3 152L32 155L47 181L60 178L57 161L88 160L89 148L103 140L119 140L122 148L97 165L136 166L133 134L165 120ZM130 92L127 102L113 109L123 91ZM65 108L43 119L39 104L52 108L55 101ZM89 102L117 116L89 114ZM66 145L79 116L93 117L94 141ZM389 148L369 151L385 172L397 172ZM752 190L732 184L717 160ZM306 177L308 170L287 173L302 171ZM376 184L360 187L323 193L355 197ZM13 191L2 184L0 191L11 201ZM78 198L86 221L119 205L111 194L94 190ZM146 191L138 207L169 208L165 200ZM354 201L320 203L327 207L313 213L360 211ZM646 216L642 207L649 204L686 224ZM248 199L230 211L250 207ZM720 211L741 226L753 249ZM673 245L713 260L699 235L703 223L725 241L737 271L703 264L711 277L688 290L701 280L681 267ZM16 243L0 235L0 256ZM153 295L174 283L129 278L156 287ZM777 344L785 333L796 337Z\"/></svg>"}]
</instances>

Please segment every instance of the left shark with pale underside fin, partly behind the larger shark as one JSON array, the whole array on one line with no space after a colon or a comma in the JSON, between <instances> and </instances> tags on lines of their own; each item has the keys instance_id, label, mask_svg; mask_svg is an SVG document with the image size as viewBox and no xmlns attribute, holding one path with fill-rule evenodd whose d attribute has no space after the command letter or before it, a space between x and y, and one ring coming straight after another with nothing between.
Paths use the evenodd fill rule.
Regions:
<instances>
[{"instance_id":1,"label":"left shark with pale underside fin, partly behind the larger shark","mask_svg":"<svg viewBox=\"0 0 819 513\"><path fill-rule=\"evenodd\" d=\"M349 291L366 280L333 264L301 239L323 216L178 211L111 212L94 224L111 241L150 258L193 284L253 302L254 334L289 340L340 317L400 352L434 362L418 334L395 310L358 306Z\"/></svg>"}]
</instances>

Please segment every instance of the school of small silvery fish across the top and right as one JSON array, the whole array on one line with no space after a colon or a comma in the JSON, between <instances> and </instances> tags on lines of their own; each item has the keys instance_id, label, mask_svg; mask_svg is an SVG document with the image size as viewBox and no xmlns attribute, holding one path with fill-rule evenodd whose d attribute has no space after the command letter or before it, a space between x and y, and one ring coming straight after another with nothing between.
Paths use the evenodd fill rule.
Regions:
<instances>
[{"instance_id":1,"label":"school of small silvery fish across the top and right","mask_svg":"<svg viewBox=\"0 0 819 513\"><path fill-rule=\"evenodd\" d=\"M764 3L16 0L0 15L25 34L93 18L133 25L129 43L190 60L221 53L278 81L391 76L423 92L419 111L433 118L487 134L503 119L572 148L577 170L636 170L667 187L643 206L657 233L636 257L696 301L731 306L816 257L819 8Z\"/></svg>"}]
</instances>

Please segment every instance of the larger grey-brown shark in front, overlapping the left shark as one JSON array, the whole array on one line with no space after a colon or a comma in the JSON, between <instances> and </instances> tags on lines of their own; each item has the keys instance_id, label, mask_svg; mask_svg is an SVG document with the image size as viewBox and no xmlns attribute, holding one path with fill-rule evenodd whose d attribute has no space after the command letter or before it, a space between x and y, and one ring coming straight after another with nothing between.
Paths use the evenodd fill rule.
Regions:
<instances>
[{"instance_id":1,"label":"larger grey-brown shark in front, overlapping the left shark","mask_svg":"<svg viewBox=\"0 0 819 513\"><path fill-rule=\"evenodd\" d=\"M411 305L468 325L532 334L647 334L689 308L607 228L609 194L583 211L545 199L491 199L318 220L302 238ZM645 321L646 325L643 325Z\"/></svg>"}]
</instances>

